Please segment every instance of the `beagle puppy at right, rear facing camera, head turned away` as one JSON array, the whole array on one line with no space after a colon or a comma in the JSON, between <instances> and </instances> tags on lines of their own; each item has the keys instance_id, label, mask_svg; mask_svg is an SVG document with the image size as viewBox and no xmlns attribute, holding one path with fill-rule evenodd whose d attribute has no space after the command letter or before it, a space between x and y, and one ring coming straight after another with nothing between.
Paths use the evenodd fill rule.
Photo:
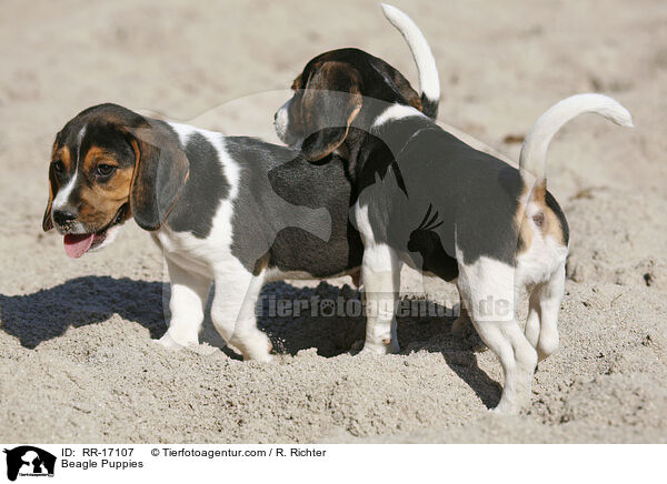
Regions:
<instances>
[{"instance_id":1,"label":"beagle puppy at right, rear facing camera, head turned away","mask_svg":"<svg viewBox=\"0 0 667 484\"><path fill-rule=\"evenodd\" d=\"M388 17L404 16L384 8ZM312 79L318 90L311 89ZM454 281L467 309L459 323L469 317L502 365L505 386L496 410L517 412L530 399L538 360L558 345L569 234L546 189L547 148L580 113L597 112L621 125L631 125L630 114L601 94L568 98L537 121L517 170L465 144L418 110L378 100L377 85L372 70L318 56L276 115L285 121L277 128L282 140L300 145L321 169L330 153L345 153L358 191L352 222L364 242L365 294L370 306L385 309L367 314L366 345L397 349L392 309L401 263ZM305 99L327 109L310 110ZM522 330L516 304L525 288L530 303Z\"/></svg>"}]
</instances>

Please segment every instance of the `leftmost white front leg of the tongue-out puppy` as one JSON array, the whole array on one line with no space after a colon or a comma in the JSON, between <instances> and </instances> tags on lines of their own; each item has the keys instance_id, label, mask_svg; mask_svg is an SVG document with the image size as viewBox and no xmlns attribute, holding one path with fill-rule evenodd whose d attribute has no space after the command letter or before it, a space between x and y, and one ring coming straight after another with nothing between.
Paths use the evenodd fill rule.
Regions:
<instances>
[{"instance_id":1,"label":"leftmost white front leg of the tongue-out puppy","mask_svg":"<svg viewBox=\"0 0 667 484\"><path fill-rule=\"evenodd\" d=\"M211 279L188 272L168 258L166 260L171 281L171 320L169 329L158 342L165 347L180 350L199 343L199 330L203 322L203 307Z\"/></svg>"}]
</instances>

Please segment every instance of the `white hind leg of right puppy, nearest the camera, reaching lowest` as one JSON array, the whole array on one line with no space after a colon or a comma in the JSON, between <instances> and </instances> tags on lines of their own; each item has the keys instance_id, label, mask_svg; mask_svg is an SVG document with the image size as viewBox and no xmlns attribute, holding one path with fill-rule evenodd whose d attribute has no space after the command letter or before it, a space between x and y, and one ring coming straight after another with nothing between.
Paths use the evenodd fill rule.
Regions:
<instances>
[{"instance_id":1,"label":"white hind leg of right puppy, nearest the camera, reaching lowest","mask_svg":"<svg viewBox=\"0 0 667 484\"><path fill-rule=\"evenodd\" d=\"M496 412L518 413L530 401L537 352L515 316L514 268L480 258L460 264L459 290L470 319L486 345L502 365L505 384Z\"/></svg>"}]
</instances>

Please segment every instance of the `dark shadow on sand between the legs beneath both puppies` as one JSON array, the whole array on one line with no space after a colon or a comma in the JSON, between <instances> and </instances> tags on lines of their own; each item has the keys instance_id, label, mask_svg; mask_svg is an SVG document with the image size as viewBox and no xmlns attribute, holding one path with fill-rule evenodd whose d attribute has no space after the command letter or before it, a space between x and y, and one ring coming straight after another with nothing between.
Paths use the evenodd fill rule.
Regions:
<instances>
[{"instance_id":1,"label":"dark shadow on sand between the legs beneath both puppies","mask_svg":"<svg viewBox=\"0 0 667 484\"><path fill-rule=\"evenodd\" d=\"M280 301L285 301L282 307ZM301 304L297 307L295 301ZM360 349L366 333L360 310L359 291L347 284L339 288L322 281L317 288L295 288L280 281L265 286L258 301L258 325L278 353L295 355L317 347L320 356L332 357ZM440 353L487 407L498 404L502 387L479 367L474 350L486 346L471 325L466 336L454 337L452 309L426 300L402 300L398 314L401 354Z\"/></svg>"}]
</instances>

